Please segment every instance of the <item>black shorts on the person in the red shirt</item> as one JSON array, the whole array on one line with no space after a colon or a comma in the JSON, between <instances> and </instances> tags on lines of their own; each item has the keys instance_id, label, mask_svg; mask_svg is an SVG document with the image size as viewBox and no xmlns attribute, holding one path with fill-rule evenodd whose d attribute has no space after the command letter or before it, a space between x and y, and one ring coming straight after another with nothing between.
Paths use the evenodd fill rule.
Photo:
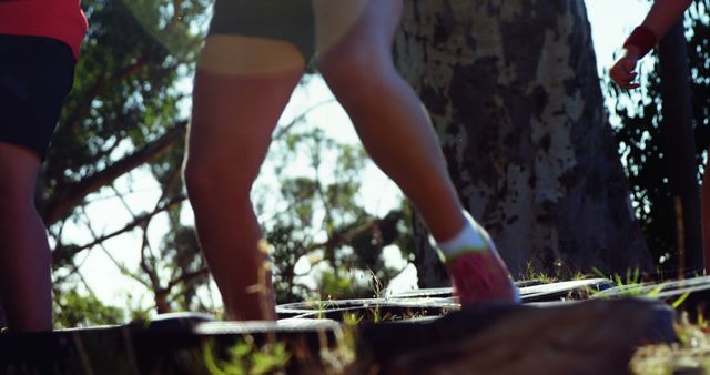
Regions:
<instances>
[{"instance_id":1,"label":"black shorts on the person in the red shirt","mask_svg":"<svg viewBox=\"0 0 710 375\"><path fill-rule=\"evenodd\" d=\"M77 61L64 42L0 34L0 142L44 159Z\"/></svg>"}]
</instances>

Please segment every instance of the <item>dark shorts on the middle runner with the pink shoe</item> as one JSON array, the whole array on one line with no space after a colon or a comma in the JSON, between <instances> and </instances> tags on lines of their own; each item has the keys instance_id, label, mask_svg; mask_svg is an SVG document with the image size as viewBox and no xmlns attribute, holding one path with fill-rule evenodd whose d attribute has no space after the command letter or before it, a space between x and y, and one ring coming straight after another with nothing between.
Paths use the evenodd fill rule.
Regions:
<instances>
[{"instance_id":1,"label":"dark shorts on the middle runner with the pink shoe","mask_svg":"<svg viewBox=\"0 0 710 375\"><path fill-rule=\"evenodd\" d=\"M285 40L308 61L315 54L313 0L216 0L210 34Z\"/></svg>"}]
</instances>

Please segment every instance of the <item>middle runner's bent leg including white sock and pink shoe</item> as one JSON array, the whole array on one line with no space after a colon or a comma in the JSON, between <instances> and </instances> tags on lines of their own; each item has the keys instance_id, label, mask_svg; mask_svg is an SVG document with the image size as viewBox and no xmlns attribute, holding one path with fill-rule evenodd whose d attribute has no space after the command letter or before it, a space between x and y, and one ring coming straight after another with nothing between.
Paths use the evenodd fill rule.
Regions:
<instances>
[{"instance_id":1,"label":"middle runner's bent leg including white sock and pink shoe","mask_svg":"<svg viewBox=\"0 0 710 375\"><path fill-rule=\"evenodd\" d=\"M505 263L465 217L429 119L392 61L402 0L314 0L314 8L321 72L369 155L422 214L462 303L516 302Z\"/></svg>"}]
</instances>

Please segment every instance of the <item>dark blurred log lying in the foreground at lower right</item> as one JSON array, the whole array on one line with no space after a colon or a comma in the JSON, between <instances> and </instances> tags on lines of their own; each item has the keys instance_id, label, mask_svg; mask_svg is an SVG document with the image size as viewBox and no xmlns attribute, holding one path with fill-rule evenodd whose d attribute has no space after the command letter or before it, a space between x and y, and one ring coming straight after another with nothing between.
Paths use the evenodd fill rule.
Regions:
<instances>
[{"instance_id":1,"label":"dark blurred log lying in the foreground at lower right","mask_svg":"<svg viewBox=\"0 0 710 375\"><path fill-rule=\"evenodd\" d=\"M648 300L464 308L420 324L363 326L382 374L627 374L643 343L676 339L674 313Z\"/></svg>"}]
</instances>

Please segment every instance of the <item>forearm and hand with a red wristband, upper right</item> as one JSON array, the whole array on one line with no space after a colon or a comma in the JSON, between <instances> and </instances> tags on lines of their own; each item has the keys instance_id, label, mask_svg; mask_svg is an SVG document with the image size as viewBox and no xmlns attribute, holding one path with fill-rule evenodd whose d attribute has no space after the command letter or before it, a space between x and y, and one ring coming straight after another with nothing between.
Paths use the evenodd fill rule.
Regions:
<instances>
[{"instance_id":1,"label":"forearm and hand with a red wristband, upper right","mask_svg":"<svg viewBox=\"0 0 710 375\"><path fill-rule=\"evenodd\" d=\"M639 87L636 79L636 64L645 57L672 26L678 22L692 0L656 0L646 19L633 30L623 43L621 57L609 71L611 79L621 89L636 89Z\"/></svg>"}]
</instances>

